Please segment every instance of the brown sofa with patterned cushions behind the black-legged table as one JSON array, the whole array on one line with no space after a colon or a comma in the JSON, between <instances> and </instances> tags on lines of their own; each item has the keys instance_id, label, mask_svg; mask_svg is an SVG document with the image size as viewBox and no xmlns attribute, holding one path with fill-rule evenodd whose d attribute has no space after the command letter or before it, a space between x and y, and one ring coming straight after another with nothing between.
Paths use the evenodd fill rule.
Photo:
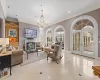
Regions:
<instances>
[{"instance_id":1,"label":"brown sofa with patterned cushions behind the black-legged table","mask_svg":"<svg viewBox=\"0 0 100 80\"><path fill-rule=\"evenodd\" d=\"M12 47L7 45L6 47L2 47L1 53L5 53L7 51L11 51L11 66L23 63L23 49L18 49L18 47Z\"/></svg>"}]
</instances>

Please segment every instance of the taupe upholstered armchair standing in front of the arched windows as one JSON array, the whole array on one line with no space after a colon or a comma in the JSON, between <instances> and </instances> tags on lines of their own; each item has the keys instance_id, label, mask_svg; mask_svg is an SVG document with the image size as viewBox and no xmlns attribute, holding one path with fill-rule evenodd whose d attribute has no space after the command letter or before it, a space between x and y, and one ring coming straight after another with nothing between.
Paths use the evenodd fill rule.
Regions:
<instances>
[{"instance_id":1,"label":"taupe upholstered armchair standing in front of the arched windows","mask_svg":"<svg viewBox=\"0 0 100 80\"><path fill-rule=\"evenodd\" d=\"M49 53L47 54L47 60L48 58L51 58L53 61L56 61L56 63L58 64L59 63L58 61L62 58L61 53L62 53L61 44L59 45L54 44L51 46L51 49L49 49Z\"/></svg>"}]
</instances>

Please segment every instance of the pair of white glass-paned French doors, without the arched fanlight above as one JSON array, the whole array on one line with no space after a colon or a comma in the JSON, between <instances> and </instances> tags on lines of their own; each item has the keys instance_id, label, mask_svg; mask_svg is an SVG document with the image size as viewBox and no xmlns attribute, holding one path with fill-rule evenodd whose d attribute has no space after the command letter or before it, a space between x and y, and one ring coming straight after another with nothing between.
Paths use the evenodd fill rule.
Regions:
<instances>
[{"instance_id":1,"label":"pair of white glass-paned French doors, without the arched fanlight above","mask_svg":"<svg viewBox=\"0 0 100 80\"><path fill-rule=\"evenodd\" d=\"M92 30L77 30L72 34L72 53L94 58L94 32Z\"/></svg>"}]
</instances>

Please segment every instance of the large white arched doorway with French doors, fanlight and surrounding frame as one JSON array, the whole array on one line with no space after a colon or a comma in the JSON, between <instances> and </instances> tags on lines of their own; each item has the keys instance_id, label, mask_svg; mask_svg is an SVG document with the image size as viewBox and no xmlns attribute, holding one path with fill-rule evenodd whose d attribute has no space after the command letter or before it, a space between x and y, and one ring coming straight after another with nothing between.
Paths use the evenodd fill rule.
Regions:
<instances>
[{"instance_id":1,"label":"large white arched doorway with French doors, fanlight and surrounding frame","mask_svg":"<svg viewBox=\"0 0 100 80\"><path fill-rule=\"evenodd\" d=\"M71 52L92 58L98 57L98 25L91 16L82 16L71 27Z\"/></svg>"}]
</instances>

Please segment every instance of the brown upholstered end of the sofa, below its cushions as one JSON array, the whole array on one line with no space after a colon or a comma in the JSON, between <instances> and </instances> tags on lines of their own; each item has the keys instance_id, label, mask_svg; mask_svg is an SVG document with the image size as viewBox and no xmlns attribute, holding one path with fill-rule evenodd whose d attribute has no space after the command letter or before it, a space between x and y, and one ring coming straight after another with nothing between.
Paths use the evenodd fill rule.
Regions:
<instances>
[{"instance_id":1,"label":"brown upholstered end of the sofa, below its cushions","mask_svg":"<svg viewBox=\"0 0 100 80\"><path fill-rule=\"evenodd\" d=\"M23 50L12 51L11 65L17 65L23 63Z\"/></svg>"}]
</instances>

